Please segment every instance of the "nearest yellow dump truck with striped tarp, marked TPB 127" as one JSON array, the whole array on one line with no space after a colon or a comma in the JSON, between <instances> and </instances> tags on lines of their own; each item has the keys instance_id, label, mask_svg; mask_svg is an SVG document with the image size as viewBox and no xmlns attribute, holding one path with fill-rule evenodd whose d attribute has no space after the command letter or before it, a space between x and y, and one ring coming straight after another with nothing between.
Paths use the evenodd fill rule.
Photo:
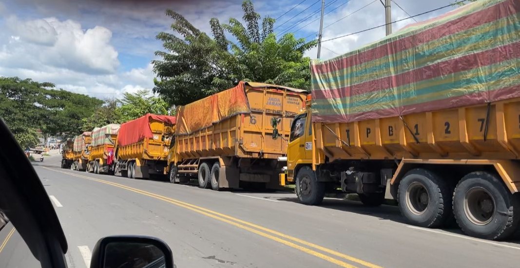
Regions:
<instances>
[{"instance_id":1,"label":"nearest yellow dump truck with striped tarp, marked TPB 127","mask_svg":"<svg viewBox=\"0 0 520 268\"><path fill-rule=\"evenodd\" d=\"M520 2L478 1L311 63L288 171L301 203L340 188L423 227L504 239L520 221ZM276 125L276 121L274 122Z\"/></svg>"}]
</instances>

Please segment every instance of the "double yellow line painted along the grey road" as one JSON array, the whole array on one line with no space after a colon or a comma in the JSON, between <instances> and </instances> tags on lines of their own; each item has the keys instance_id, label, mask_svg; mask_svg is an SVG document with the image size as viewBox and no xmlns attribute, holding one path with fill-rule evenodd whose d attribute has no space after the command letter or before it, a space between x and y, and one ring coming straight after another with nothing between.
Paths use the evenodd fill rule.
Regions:
<instances>
[{"instance_id":1,"label":"double yellow line painted along the grey road","mask_svg":"<svg viewBox=\"0 0 520 268\"><path fill-rule=\"evenodd\" d=\"M303 251L305 253L308 253L308 254L310 254L312 256L315 256L315 257L318 257L320 259L326 260L328 262L337 264L337 265L339 265L341 267L357 268L356 266L354 266L352 264L349 264L349 263L346 263L343 260L341 260L341 259L345 259L345 260L348 260L348 261L351 261L351 262L354 262L354 263L358 263L358 264L361 264L363 266L370 267L370 268L382 268L381 266L372 264L370 262L363 261L363 260L354 258L352 256L348 256L347 254L343 254L341 252L337 252L337 251L334 251L332 249L328 249L328 248L316 245L314 243L310 243L310 242L307 242L305 240L302 240L302 239L299 239L299 238L296 238L296 237L293 237L293 236L290 236L290 235L286 235L286 234L283 234L283 233L280 233L280 232L268 229L266 227L263 227L263 226L260 226L260 225L257 225L257 224L251 223L251 222L240 220L240 219L237 219L237 218L225 215L223 213L219 213L219 212L216 212L216 211L213 211L213 210L210 210L210 209L206 209L206 208L199 207L199 206L196 206L196 205L192 205L192 204L189 204L189 203L186 203L186 202L182 202L180 200L176 200L176 199L173 199L173 198L170 198L170 197L166 197L166 196L150 193L150 192L147 192L147 191L143 191L143 190L140 190L140 189L136 189L136 188L129 187L129 186L126 186L126 185L123 185L123 184L115 183L115 182L110 182L110 181L106 181L106 180L96 179L96 178L92 178L92 177L86 177L86 176L83 176L83 175L77 175L76 173L54 170L54 169L50 169L50 168L47 168L47 167L43 167L43 168L48 169L48 170L52 170L52 171L55 171L55 172L64 173L64 174L67 174L67 175L70 175L70 176L74 176L74 177L79 177L79 178L83 178L83 179L88 179L88 180L93 180L93 181L109 184L109 185L112 185L112 186L115 186L115 187L119 187L119 188L122 188L122 189L125 189L125 190L128 190L128 191L132 191L132 192L135 192L135 193L138 193L138 194L142 194L142 195L146 195L146 196L149 196L149 197L153 197L155 199L159 199L159 200L162 200L164 202L171 203L173 205L189 209L191 211L197 212L199 214L202 214L204 216L213 218L215 220L219 220L219 221L228 223L230 225L239 227L240 229L243 229L243 230L249 231L251 233L263 236L265 238L269 238L269 239L274 240L274 241L276 241L278 243L281 243L283 245L286 245L286 246L289 246L289 247L301 250L301 251ZM284 238L284 239L282 239L282 238ZM302 244L304 246L295 244L294 242ZM339 257L341 259L336 259L336 258L327 256L326 254L323 254L323 253L318 252L316 250L313 250L311 248L317 249L317 250L320 250L320 251L323 251L323 252L326 252L326 253L329 253L329 254L331 254L333 256L336 256L336 257Z\"/></svg>"}]
</instances>

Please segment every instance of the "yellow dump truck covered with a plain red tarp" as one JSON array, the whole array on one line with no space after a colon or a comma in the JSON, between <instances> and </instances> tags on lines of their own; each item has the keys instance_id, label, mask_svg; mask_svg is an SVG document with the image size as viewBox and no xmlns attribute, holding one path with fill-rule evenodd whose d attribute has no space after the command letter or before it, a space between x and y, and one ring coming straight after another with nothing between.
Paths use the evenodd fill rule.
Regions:
<instances>
[{"instance_id":1,"label":"yellow dump truck covered with a plain red tarp","mask_svg":"<svg viewBox=\"0 0 520 268\"><path fill-rule=\"evenodd\" d=\"M175 116L146 114L123 123L115 142L114 175L165 176Z\"/></svg>"}]
</instances>

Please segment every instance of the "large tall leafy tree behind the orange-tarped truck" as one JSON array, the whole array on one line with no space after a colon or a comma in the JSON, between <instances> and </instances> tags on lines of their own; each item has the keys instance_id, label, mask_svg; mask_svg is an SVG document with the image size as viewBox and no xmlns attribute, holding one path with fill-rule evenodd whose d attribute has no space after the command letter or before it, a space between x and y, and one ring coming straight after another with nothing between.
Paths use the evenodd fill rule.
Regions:
<instances>
[{"instance_id":1,"label":"large tall leafy tree behind the orange-tarped truck","mask_svg":"<svg viewBox=\"0 0 520 268\"><path fill-rule=\"evenodd\" d=\"M273 32L275 19L262 19L249 0L242 3L242 10L244 24L236 18L224 24L211 19L212 37L177 12L166 10L166 15L174 20L173 33L157 35L164 51L156 51L161 60L152 61L157 75L153 91L170 104L183 105L233 87L239 81L308 89L309 58L303 55L316 41L296 39L292 33L278 39ZM236 42L229 41L226 32Z\"/></svg>"}]
</instances>

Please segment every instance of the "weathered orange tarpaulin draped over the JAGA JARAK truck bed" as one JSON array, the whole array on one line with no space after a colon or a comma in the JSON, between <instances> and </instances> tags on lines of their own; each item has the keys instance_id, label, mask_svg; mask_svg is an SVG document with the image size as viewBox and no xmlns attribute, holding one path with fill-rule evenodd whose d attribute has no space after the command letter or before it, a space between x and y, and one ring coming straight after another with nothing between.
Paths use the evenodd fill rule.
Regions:
<instances>
[{"instance_id":1,"label":"weathered orange tarpaulin draped over the JAGA JARAK truck bed","mask_svg":"<svg viewBox=\"0 0 520 268\"><path fill-rule=\"evenodd\" d=\"M233 115L250 112L244 82L240 82L236 87L181 106L177 113L177 135L188 135Z\"/></svg>"}]
</instances>

